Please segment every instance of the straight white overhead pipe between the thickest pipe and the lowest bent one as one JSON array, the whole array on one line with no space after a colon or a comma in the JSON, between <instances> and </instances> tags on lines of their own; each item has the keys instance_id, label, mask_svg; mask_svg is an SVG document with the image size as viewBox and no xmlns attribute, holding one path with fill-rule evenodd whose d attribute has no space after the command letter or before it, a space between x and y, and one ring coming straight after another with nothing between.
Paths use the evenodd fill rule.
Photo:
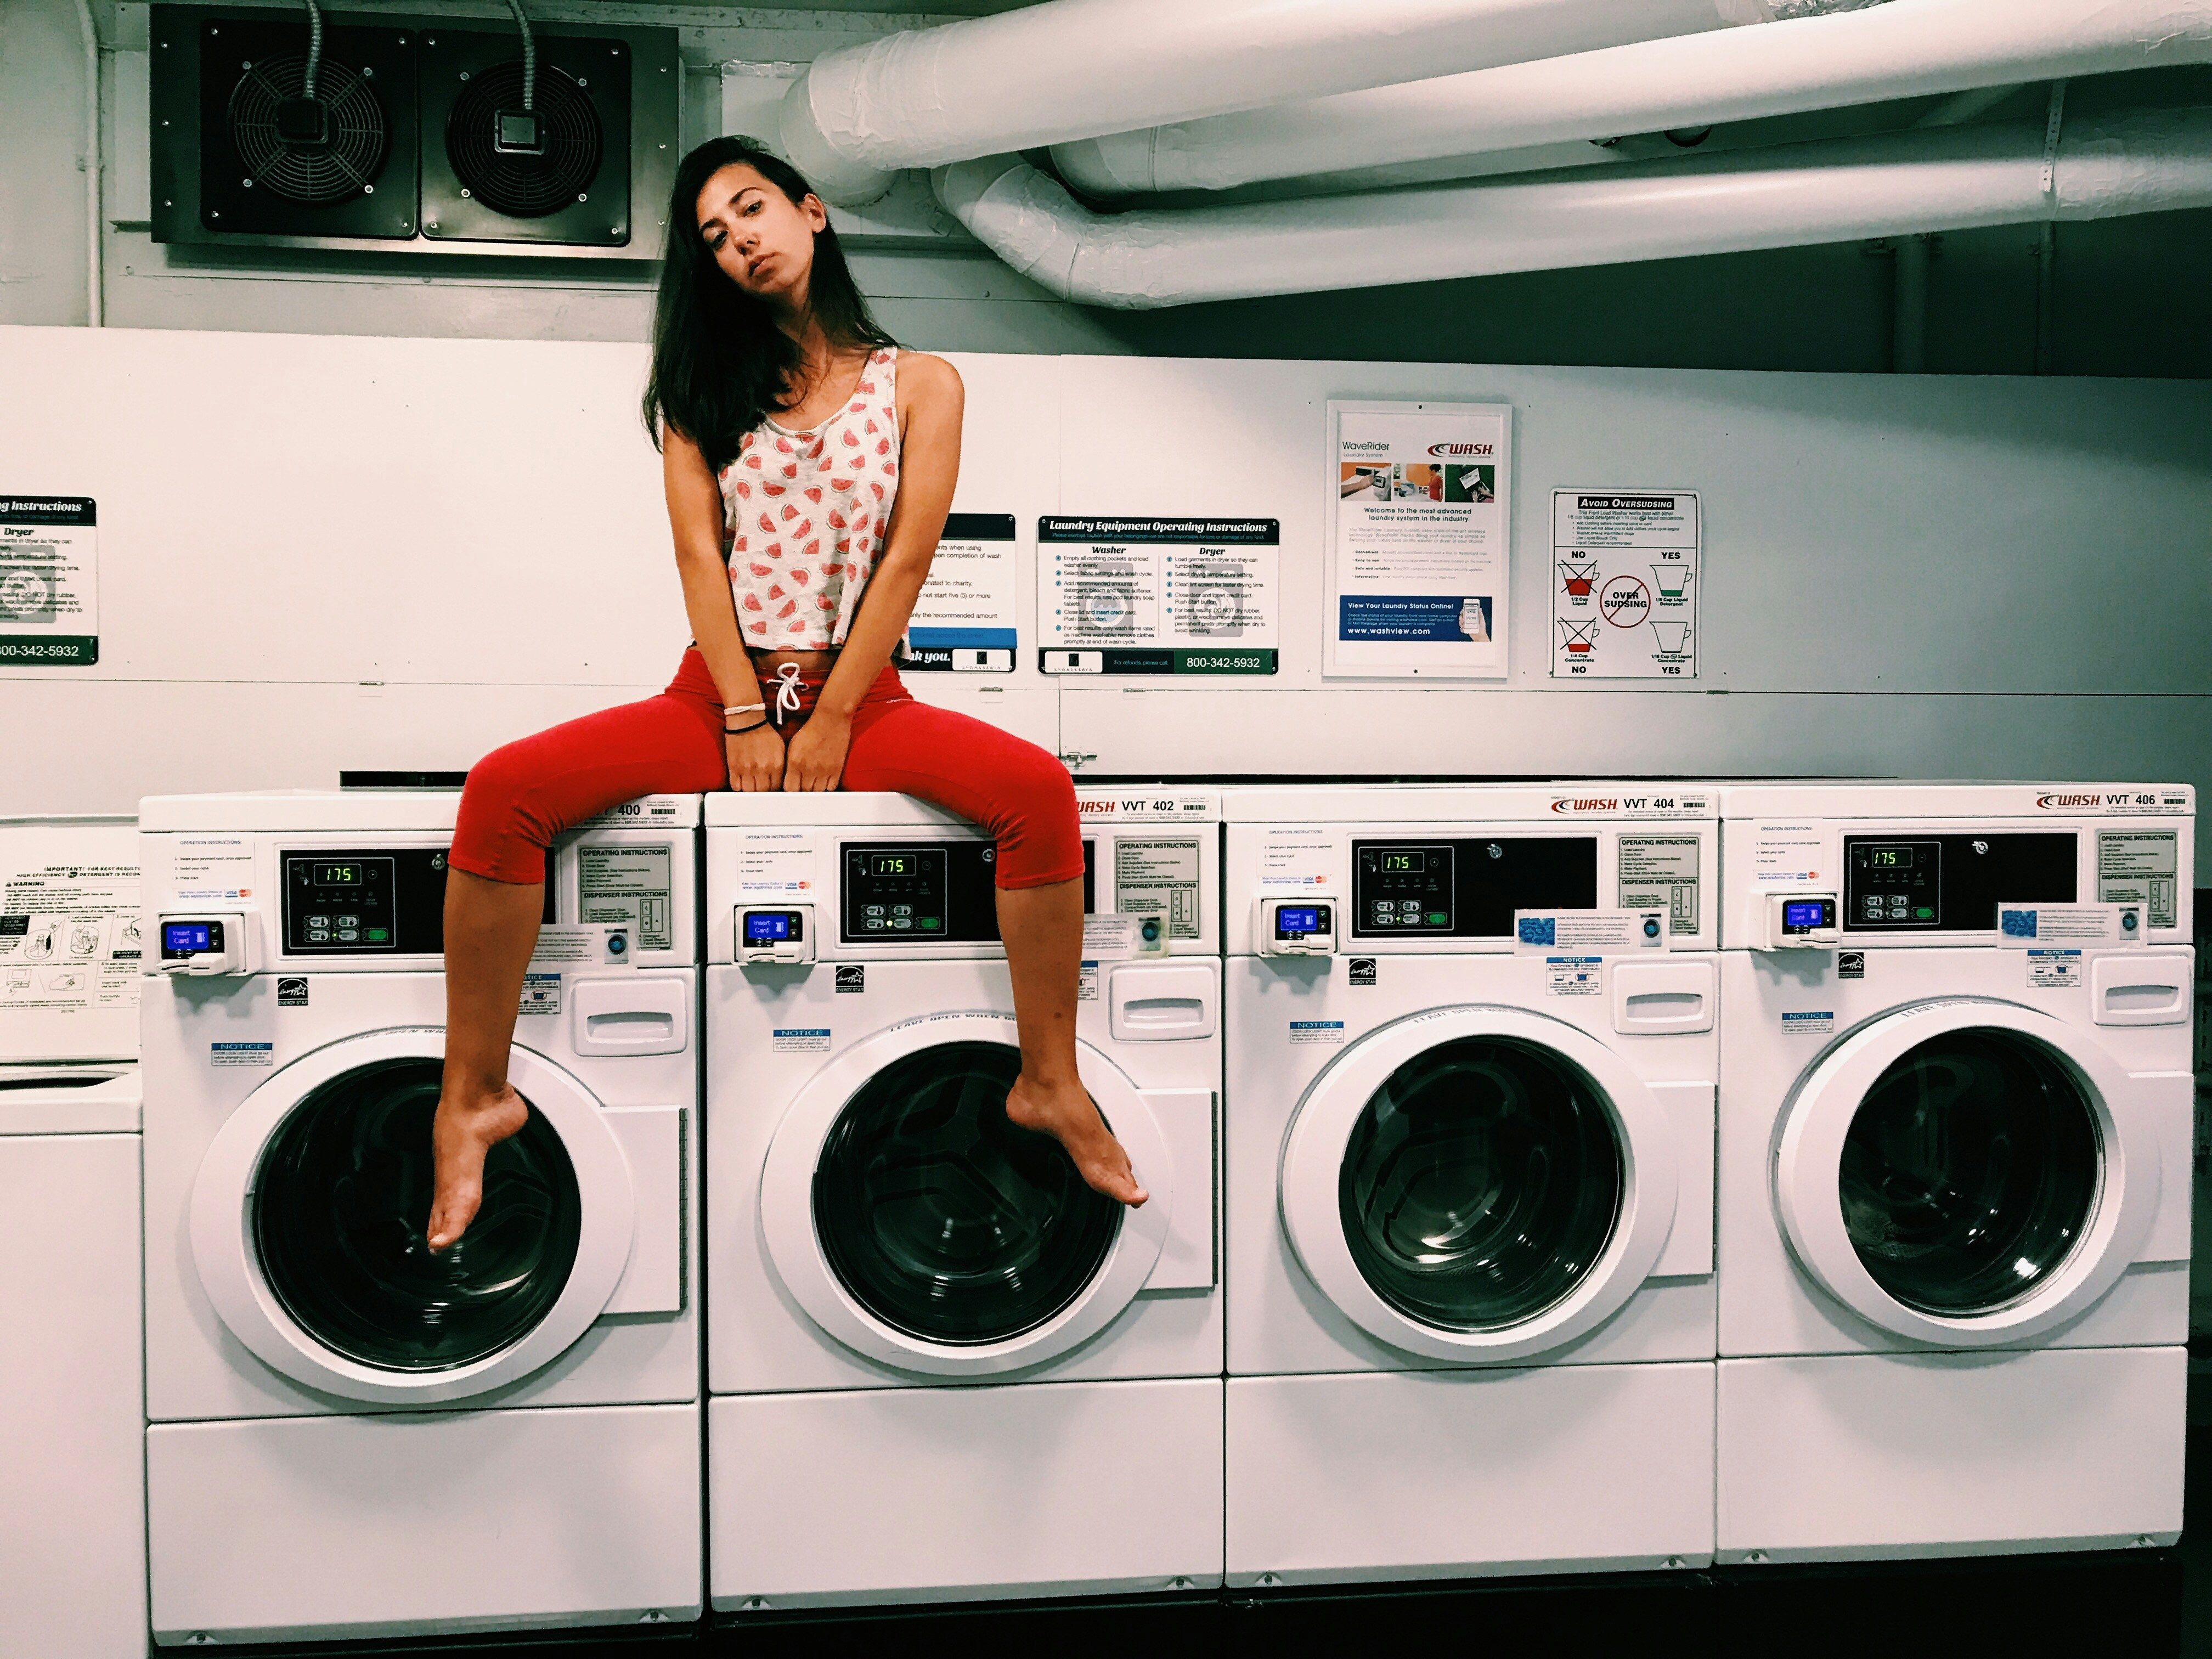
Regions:
<instances>
[{"instance_id":1,"label":"straight white overhead pipe between the thickest pipe and the lowest bent one","mask_svg":"<svg viewBox=\"0 0 2212 1659\"><path fill-rule=\"evenodd\" d=\"M2212 60L2212 0L1893 0L1790 29L1646 40L1053 146L1084 195L1608 139Z\"/></svg>"}]
</instances>

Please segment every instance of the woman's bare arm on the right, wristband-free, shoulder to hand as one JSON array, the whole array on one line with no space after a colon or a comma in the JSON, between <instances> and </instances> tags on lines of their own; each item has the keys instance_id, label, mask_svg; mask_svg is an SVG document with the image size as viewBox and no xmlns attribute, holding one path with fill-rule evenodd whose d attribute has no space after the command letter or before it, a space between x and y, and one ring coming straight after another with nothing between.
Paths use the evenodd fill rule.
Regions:
<instances>
[{"instance_id":1,"label":"woman's bare arm on the right, wristband-free, shoulder to hand","mask_svg":"<svg viewBox=\"0 0 2212 1659\"><path fill-rule=\"evenodd\" d=\"M907 617L929 580L938 535L960 482L960 416L967 389L960 372L940 356L898 358L898 500L883 538L883 557L867 577L860 611L845 635L814 714L792 739L785 790L834 790L852 743L852 714L891 661L907 633ZM717 679L717 684L721 684ZM752 699L745 699L752 701Z\"/></svg>"}]
</instances>

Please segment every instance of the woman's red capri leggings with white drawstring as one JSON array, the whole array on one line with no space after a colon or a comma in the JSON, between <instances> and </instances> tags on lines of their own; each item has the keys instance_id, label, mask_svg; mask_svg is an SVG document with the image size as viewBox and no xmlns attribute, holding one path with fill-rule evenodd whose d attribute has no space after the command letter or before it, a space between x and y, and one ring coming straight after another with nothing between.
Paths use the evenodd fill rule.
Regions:
<instances>
[{"instance_id":1,"label":"woman's red capri leggings with white drawstring","mask_svg":"<svg viewBox=\"0 0 2212 1659\"><path fill-rule=\"evenodd\" d=\"M801 681L814 710L823 675ZM770 708L776 681L765 690ZM690 794L730 781L721 692L706 659L684 653L668 690L606 708L493 750L469 768L451 860L471 876L535 883L546 847L568 825L641 794ZM947 708L918 703L885 668L852 717L845 790L898 790L991 832L1000 887L1046 887L1084 874L1084 843L1068 770L1035 743Z\"/></svg>"}]
</instances>

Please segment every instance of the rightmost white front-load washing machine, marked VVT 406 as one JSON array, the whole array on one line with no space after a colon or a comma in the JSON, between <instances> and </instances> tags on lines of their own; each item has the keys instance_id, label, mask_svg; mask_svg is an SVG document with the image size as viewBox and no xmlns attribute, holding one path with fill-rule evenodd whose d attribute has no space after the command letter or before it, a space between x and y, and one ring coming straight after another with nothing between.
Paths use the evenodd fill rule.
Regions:
<instances>
[{"instance_id":1,"label":"rightmost white front-load washing machine, marked VVT 406","mask_svg":"<svg viewBox=\"0 0 2212 1659\"><path fill-rule=\"evenodd\" d=\"M1721 812L1719 1559L2170 1544L2192 790Z\"/></svg>"}]
</instances>

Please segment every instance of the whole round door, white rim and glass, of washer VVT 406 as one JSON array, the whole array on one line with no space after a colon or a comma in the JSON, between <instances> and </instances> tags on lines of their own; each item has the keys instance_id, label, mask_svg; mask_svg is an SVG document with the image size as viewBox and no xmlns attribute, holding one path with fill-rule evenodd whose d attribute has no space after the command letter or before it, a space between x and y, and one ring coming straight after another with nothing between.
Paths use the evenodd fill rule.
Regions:
<instances>
[{"instance_id":1,"label":"whole round door, white rim and glass, of washer VVT 406","mask_svg":"<svg viewBox=\"0 0 2212 1659\"><path fill-rule=\"evenodd\" d=\"M2141 1250L2159 1146L2090 1035L2006 1002L1924 1002L1814 1064L1783 1108L1774 1201L1840 1303L1942 1347L2086 1312Z\"/></svg>"}]
</instances>

